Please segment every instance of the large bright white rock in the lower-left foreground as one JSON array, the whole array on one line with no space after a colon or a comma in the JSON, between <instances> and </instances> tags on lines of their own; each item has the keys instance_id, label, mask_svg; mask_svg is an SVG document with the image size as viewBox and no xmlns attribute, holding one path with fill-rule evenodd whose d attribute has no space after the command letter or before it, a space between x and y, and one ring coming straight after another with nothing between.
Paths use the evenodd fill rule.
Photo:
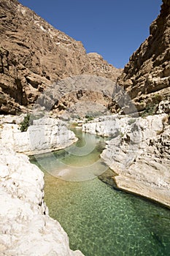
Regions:
<instances>
[{"instance_id":1,"label":"large bright white rock in the lower-left foreground","mask_svg":"<svg viewBox=\"0 0 170 256\"><path fill-rule=\"evenodd\" d=\"M23 154L0 148L0 255L72 256L69 238L48 216L43 173Z\"/></svg>"}]
</instances>

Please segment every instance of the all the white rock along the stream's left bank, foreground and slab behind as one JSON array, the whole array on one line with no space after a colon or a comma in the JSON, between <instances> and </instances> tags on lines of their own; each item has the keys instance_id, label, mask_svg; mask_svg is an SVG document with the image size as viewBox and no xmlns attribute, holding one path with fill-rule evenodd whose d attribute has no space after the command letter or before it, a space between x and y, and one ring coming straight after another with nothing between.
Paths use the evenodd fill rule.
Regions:
<instances>
[{"instance_id":1,"label":"all the white rock along the stream's left bank, foreground and slab behind","mask_svg":"<svg viewBox=\"0 0 170 256\"><path fill-rule=\"evenodd\" d=\"M0 255L82 255L69 249L67 234L48 216L42 171L25 154L15 153L64 148L77 140L74 133L53 118L36 120L27 132L20 132L18 124L11 124L13 118L0 120Z\"/></svg>"}]
</instances>

